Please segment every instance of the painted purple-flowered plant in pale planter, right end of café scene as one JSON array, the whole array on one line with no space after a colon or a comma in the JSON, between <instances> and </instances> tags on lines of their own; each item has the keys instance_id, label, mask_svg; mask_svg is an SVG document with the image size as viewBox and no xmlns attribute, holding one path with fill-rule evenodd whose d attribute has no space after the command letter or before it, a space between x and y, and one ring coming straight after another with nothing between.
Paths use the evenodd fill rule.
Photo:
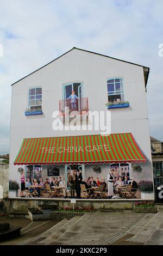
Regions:
<instances>
[{"instance_id":1,"label":"painted purple-flowered plant in pale planter, right end of caf\u00e9 scene","mask_svg":"<svg viewBox=\"0 0 163 256\"><path fill-rule=\"evenodd\" d=\"M142 199L153 199L153 182L149 180L141 180L139 182L139 190Z\"/></svg>"}]
</instances>

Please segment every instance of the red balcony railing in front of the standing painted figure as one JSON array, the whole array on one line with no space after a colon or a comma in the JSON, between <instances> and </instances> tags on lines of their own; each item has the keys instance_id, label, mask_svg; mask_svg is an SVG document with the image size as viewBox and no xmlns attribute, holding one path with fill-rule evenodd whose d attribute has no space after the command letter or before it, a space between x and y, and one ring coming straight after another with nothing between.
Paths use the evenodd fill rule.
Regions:
<instances>
[{"instance_id":1,"label":"red balcony railing in front of the standing painted figure","mask_svg":"<svg viewBox=\"0 0 163 256\"><path fill-rule=\"evenodd\" d=\"M71 112L76 112L78 114L87 114L89 111L88 98L70 99L70 100L60 100L59 101L59 111L61 114L66 115Z\"/></svg>"}]
</instances>

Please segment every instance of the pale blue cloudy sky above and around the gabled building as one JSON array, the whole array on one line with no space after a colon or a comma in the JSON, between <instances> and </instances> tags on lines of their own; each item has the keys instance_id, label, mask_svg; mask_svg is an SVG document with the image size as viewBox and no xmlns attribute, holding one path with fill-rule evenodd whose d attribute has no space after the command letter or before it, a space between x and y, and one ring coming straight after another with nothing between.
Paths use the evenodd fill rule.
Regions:
<instances>
[{"instance_id":1,"label":"pale blue cloudy sky above and around the gabled building","mask_svg":"<svg viewBox=\"0 0 163 256\"><path fill-rule=\"evenodd\" d=\"M0 154L9 153L10 85L74 46L150 68L149 127L163 141L162 10L162 0L0 0Z\"/></svg>"}]
</instances>

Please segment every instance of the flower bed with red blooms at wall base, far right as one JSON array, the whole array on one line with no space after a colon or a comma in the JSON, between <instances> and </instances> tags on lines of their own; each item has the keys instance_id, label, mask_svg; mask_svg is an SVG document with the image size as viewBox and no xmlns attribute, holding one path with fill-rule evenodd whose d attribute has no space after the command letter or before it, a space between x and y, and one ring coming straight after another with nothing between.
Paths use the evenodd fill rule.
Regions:
<instances>
[{"instance_id":1,"label":"flower bed with red blooms at wall base, far right","mask_svg":"<svg viewBox=\"0 0 163 256\"><path fill-rule=\"evenodd\" d=\"M134 212L156 213L158 211L154 202L136 202L134 204Z\"/></svg>"}]
</instances>

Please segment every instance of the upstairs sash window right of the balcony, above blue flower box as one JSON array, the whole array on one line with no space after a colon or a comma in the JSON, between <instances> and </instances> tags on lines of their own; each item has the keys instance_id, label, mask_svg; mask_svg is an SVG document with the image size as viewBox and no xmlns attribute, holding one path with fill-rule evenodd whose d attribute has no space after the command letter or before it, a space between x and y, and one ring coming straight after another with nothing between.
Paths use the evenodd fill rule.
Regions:
<instances>
[{"instance_id":1,"label":"upstairs sash window right of the balcony, above blue flower box","mask_svg":"<svg viewBox=\"0 0 163 256\"><path fill-rule=\"evenodd\" d=\"M124 101L123 83L121 78L110 79L107 81L108 101Z\"/></svg>"}]
</instances>

